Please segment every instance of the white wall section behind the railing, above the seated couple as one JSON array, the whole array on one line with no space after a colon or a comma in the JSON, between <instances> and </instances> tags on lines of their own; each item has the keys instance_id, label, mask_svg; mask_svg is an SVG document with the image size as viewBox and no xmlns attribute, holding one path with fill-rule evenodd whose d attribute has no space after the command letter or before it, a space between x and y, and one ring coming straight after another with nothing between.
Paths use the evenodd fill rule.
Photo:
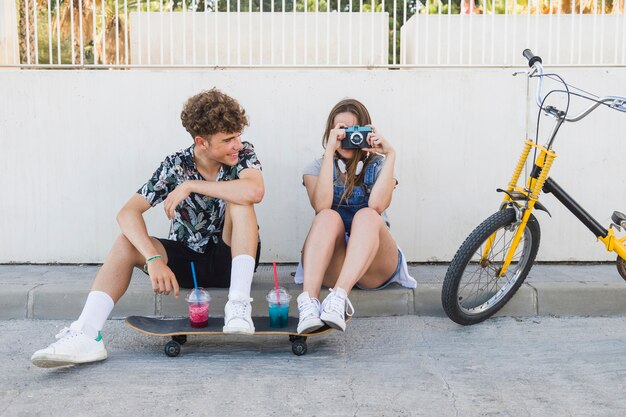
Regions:
<instances>
[{"instance_id":1,"label":"white wall section behind the railing, above the seated couple","mask_svg":"<svg viewBox=\"0 0 626 417\"><path fill-rule=\"evenodd\" d=\"M388 22L388 13L135 12L130 63L386 65Z\"/></svg>"}]
</instances>

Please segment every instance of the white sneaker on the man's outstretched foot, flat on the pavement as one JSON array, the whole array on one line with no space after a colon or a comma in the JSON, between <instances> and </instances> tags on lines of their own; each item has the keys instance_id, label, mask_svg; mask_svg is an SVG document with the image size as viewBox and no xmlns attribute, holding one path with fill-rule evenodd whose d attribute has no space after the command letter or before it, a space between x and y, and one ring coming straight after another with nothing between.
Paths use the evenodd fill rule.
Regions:
<instances>
[{"instance_id":1,"label":"white sneaker on the man's outstretched foot, flat on the pavement","mask_svg":"<svg viewBox=\"0 0 626 417\"><path fill-rule=\"evenodd\" d=\"M33 365L40 368L55 368L107 358L102 335L98 332L97 339L87 336L82 330L82 323L77 321L69 328L61 330L56 338L59 340L33 354L30 358Z\"/></svg>"}]
</instances>

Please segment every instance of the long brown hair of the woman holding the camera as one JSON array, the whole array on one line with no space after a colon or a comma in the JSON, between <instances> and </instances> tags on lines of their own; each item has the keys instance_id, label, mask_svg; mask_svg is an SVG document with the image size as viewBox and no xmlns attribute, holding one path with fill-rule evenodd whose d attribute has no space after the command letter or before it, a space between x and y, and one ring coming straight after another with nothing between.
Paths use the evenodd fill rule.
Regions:
<instances>
[{"instance_id":1,"label":"long brown hair of the woman holding the camera","mask_svg":"<svg viewBox=\"0 0 626 417\"><path fill-rule=\"evenodd\" d=\"M328 135L330 135L330 131L335 127L335 117L337 117L339 113L352 113L356 117L356 122L359 126L372 124L370 113L363 103L353 98L341 100L339 103L335 104L335 107L333 107L328 115L326 130L324 131L324 136L322 137L322 146L324 148L326 148L326 144L328 143ZM335 158L339 158L339 155L336 152ZM339 204L341 204L341 201L345 198L349 198L352 195L355 186L363 184L365 169L367 168L369 159L368 152L364 152L361 149L355 149L354 157L346 163L346 183L341 199L339 200ZM359 175L356 175L356 168L359 161L363 161L363 169Z\"/></svg>"}]
</instances>

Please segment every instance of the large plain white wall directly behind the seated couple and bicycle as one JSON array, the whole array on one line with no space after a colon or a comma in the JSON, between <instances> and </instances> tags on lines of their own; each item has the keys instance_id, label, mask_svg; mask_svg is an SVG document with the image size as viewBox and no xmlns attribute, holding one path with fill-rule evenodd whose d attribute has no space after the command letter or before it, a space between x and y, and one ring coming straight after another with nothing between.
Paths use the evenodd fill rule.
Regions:
<instances>
[{"instance_id":1,"label":"large plain white wall directly behind the seated couple and bicycle","mask_svg":"<svg viewBox=\"0 0 626 417\"><path fill-rule=\"evenodd\" d=\"M521 69L521 68L520 68ZM218 86L250 115L267 192L263 261L296 261L313 211L304 164L321 155L328 111L353 96L398 150L392 231L410 261L447 261L497 210L525 137L526 81L515 69L3 71L0 262L101 262L115 215L162 158L188 146L185 99ZM574 85L626 95L626 69L563 69ZM548 128L543 122L542 127ZM626 210L626 114L564 126L553 176L605 225ZM537 213L542 260L613 259L554 197ZM164 235L162 207L148 215Z\"/></svg>"}]
</instances>

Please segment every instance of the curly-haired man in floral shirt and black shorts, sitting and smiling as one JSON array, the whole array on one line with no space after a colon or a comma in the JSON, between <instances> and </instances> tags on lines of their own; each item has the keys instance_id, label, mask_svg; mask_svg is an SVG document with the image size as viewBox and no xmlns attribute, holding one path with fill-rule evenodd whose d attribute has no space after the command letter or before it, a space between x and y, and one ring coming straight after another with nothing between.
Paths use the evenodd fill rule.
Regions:
<instances>
[{"instance_id":1,"label":"curly-haired man in floral shirt and black shorts, sitting and smiling","mask_svg":"<svg viewBox=\"0 0 626 417\"><path fill-rule=\"evenodd\" d=\"M254 204L265 192L254 147L242 142L245 110L219 90L188 99L181 121L193 144L165 158L117 215L121 235L99 270L78 320L57 341L35 352L50 368L106 359L101 329L124 295L133 268L150 276L157 294L179 295L198 285L229 288L224 333L254 333L250 287L260 242ZM163 203L167 239L148 234L143 213Z\"/></svg>"}]
</instances>

